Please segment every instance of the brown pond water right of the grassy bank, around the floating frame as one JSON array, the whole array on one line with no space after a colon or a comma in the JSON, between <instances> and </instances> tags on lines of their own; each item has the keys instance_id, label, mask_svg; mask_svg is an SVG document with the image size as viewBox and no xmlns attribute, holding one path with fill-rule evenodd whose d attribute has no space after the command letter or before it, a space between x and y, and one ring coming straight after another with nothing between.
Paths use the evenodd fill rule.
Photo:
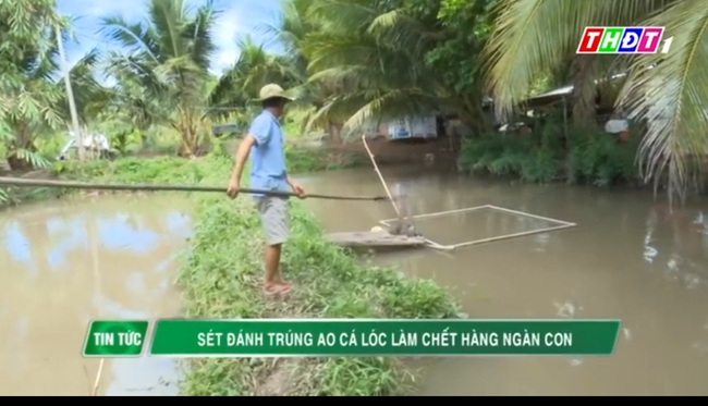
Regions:
<instances>
[{"instance_id":1,"label":"brown pond water right of the grassy bank, around the floating frame","mask_svg":"<svg viewBox=\"0 0 708 406\"><path fill-rule=\"evenodd\" d=\"M424 395L708 394L708 200L674 209L644 190L537 186L425 170L383 169L415 214L484 205L576 223L573 229L376 258L449 287L473 318L609 318L623 330L611 357L445 358L424 368ZM318 193L376 195L375 172L305 179ZM398 185L396 185L398 184ZM661 199L663 201L663 199ZM390 205L312 201L328 231L394 217ZM547 227L498 210L420 219L441 244Z\"/></svg>"}]
</instances>

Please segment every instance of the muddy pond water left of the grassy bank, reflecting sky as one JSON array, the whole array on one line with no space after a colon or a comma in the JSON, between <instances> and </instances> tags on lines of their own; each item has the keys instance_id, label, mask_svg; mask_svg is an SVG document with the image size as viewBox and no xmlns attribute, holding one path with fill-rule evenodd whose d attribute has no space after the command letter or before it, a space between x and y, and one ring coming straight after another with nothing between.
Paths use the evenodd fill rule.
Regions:
<instances>
[{"instance_id":1,"label":"muddy pond water left of the grassy bank, reflecting sky","mask_svg":"<svg viewBox=\"0 0 708 406\"><path fill-rule=\"evenodd\" d=\"M180 315L188 206L175 197L45 201L0 213L0 395L88 395L91 319ZM99 395L175 395L176 362L107 360Z\"/></svg>"}]
</instances>

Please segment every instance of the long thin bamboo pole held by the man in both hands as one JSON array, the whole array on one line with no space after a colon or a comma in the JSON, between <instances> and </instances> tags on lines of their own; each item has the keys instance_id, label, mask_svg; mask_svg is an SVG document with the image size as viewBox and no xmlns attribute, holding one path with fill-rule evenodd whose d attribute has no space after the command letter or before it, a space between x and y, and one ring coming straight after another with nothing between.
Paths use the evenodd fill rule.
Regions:
<instances>
[{"instance_id":1,"label":"long thin bamboo pole held by the man in both hands","mask_svg":"<svg viewBox=\"0 0 708 406\"><path fill-rule=\"evenodd\" d=\"M87 189L87 190L146 190L146 192L207 192L207 193L227 193L223 187L196 186L196 185L150 185L150 184L100 184L69 181L49 181L49 180L30 180L21 177L0 177L0 185L20 186L20 187L56 187L69 189ZM295 193L283 190L263 190L242 188L239 193L248 195L266 195L274 197L297 197ZM389 200L390 196L335 196L307 194L304 198L328 199L328 200L364 200L364 201L383 201Z\"/></svg>"}]
</instances>

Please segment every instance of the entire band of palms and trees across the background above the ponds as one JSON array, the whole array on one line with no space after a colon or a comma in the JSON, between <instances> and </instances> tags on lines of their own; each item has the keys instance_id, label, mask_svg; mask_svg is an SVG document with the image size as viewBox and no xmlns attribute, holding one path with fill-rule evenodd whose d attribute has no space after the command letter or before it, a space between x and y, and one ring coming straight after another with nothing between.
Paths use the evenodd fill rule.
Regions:
<instances>
[{"instance_id":1,"label":"entire band of palms and trees across the background above the ponds","mask_svg":"<svg viewBox=\"0 0 708 406\"><path fill-rule=\"evenodd\" d=\"M106 19L100 35L123 51L94 50L72 69L82 124L106 132L123 152L202 155L213 144L215 123L244 126L258 108L252 99L258 88L276 82L298 96L292 136L329 134L337 144L366 122L445 114L473 137L487 137L496 133L486 97L499 118L512 121L528 96L574 85L563 145L525 158L562 160L563 173L478 159L480 148L498 150L501 140L465 142L462 164L526 180L632 177L625 167L634 159L609 164L602 162L619 158L582 150L605 143L582 138L596 127L599 102L622 106L618 114L633 118L642 138L633 170L642 180L666 179L670 190L684 193L705 169L708 9L696 1L288 0L281 23L264 27L285 51L270 53L257 38L244 38L239 59L217 77L209 64L218 15L211 3L188 9L182 0L150 0L141 23ZM54 27L69 40L71 22L53 0L2 0L0 21L0 153L12 169L47 165L70 122ZM576 56L588 25L666 26L673 46L667 54ZM101 85L97 72L112 85ZM606 81L617 73L627 75ZM514 149L510 143L505 148ZM613 169L600 169L607 164Z\"/></svg>"}]
</instances>

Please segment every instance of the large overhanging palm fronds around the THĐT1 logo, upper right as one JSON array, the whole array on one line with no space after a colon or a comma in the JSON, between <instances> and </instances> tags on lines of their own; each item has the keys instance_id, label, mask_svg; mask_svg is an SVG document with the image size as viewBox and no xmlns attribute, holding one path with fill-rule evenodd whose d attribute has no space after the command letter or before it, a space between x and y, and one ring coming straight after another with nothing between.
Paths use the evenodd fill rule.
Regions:
<instances>
[{"instance_id":1,"label":"large overhanging palm fronds around the TH\u0110T1 logo, upper right","mask_svg":"<svg viewBox=\"0 0 708 406\"><path fill-rule=\"evenodd\" d=\"M646 180L668 174L669 196L685 196L705 169L696 157L708 147L708 10L692 0L503 0L487 48L489 90L499 113L509 114L534 82L571 65L573 116L586 120L595 81L608 64L626 66L618 99L631 118L646 122L638 152ZM586 26L666 26L667 54L578 56ZM609 61L608 61L609 60Z\"/></svg>"}]
</instances>

